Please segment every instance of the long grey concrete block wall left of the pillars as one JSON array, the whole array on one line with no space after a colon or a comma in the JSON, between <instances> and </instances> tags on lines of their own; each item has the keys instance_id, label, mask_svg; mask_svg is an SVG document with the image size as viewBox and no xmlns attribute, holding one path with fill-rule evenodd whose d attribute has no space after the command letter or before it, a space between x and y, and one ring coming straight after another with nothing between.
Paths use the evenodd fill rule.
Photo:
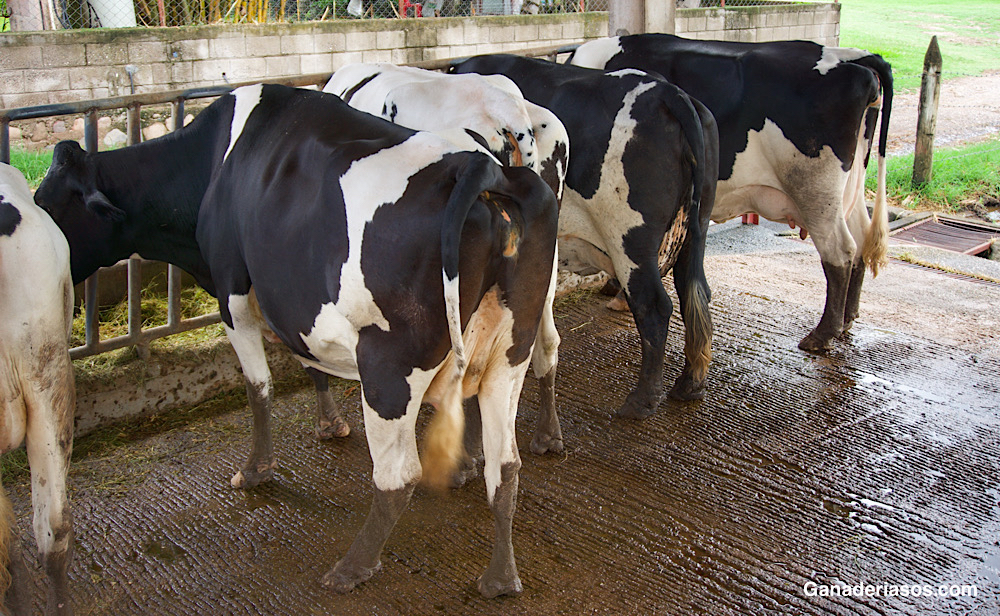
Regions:
<instances>
[{"instance_id":1,"label":"long grey concrete block wall left of the pillars","mask_svg":"<svg viewBox=\"0 0 1000 616\"><path fill-rule=\"evenodd\" d=\"M562 45L605 36L607 24L577 13L4 33L0 108Z\"/></svg>"}]
</instances>

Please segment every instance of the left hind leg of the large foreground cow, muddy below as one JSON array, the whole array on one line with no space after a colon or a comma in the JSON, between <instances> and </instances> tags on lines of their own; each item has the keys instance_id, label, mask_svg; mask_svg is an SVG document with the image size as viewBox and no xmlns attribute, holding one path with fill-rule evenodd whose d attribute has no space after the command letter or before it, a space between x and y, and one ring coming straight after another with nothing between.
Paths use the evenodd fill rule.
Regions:
<instances>
[{"instance_id":1,"label":"left hind leg of the large foreground cow, muddy below","mask_svg":"<svg viewBox=\"0 0 1000 616\"><path fill-rule=\"evenodd\" d=\"M323 585L335 592L352 590L382 568L382 548L420 481L416 415L422 398L423 389L411 396L402 417L388 420L368 405L362 393L375 494L368 517L347 554L323 576Z\"/></svg>"}]
</instances>

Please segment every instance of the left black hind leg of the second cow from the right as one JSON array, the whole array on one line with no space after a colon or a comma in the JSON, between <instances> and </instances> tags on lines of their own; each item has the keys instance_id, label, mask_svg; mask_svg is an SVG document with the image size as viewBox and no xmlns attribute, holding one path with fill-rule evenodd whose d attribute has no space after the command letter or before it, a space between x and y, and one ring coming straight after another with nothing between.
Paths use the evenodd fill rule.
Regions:
<instances>
[{"instance_id":1,"label":"left black hind leg of the second cow from the right","mask_svg":"<svg viewBox=\"0 0 1000 616\"><path fill-rule=\"evenodd\" d=\"M626 397L618 416L642 419L656 412L663 398L663 349L673 304L655 263L632 272L627 298L642 342L642 365L639 383Z\"/></svg>"}]
</instances>

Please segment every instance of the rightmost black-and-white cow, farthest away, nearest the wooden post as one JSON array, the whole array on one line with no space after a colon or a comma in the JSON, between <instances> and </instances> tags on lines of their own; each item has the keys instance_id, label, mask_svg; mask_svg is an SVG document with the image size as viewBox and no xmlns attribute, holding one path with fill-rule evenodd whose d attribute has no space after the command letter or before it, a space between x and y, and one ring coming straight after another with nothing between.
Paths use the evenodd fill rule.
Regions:
<instances>
[{"instance_id":1,"label":"rightmost black-and-white cow, farthest away, nearest the wooden post","mask_svg":"<svg viewBox=\"0 0 1000 616\"><path fill-rule=\"evenodd\" d=\"M573 64L655 72L705 103L719 123L719 188L712 219L758 213L812 235L826 306L802 339L829 349L858 316L865 264L886 263L885 147L892 69L860 49L806 41L733 43L637 34L585 43ZM869 218L865 167L882 106L878 188Z\"/></svg>"}]
</instances>

